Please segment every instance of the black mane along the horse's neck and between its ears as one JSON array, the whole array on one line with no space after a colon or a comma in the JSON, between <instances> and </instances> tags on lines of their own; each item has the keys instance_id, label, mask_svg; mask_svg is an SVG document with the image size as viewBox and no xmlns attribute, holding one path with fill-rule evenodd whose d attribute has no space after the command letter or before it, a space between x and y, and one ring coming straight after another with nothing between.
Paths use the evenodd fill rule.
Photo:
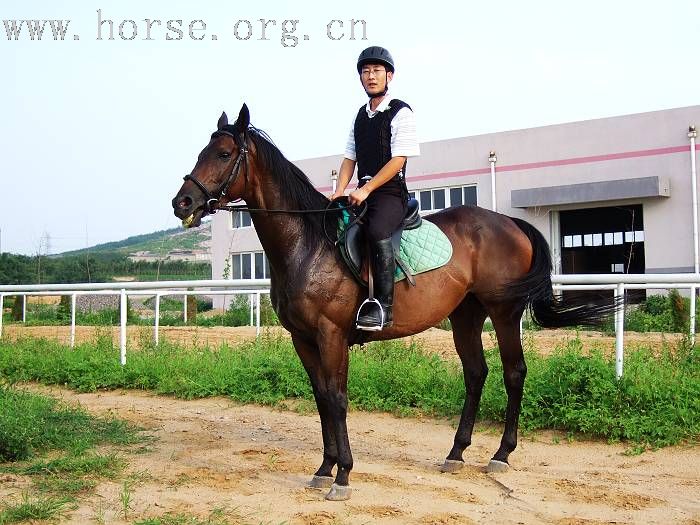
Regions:
<instances>
[{"instance_id":1,"label":"black mane along the horse's neck and between its ears","mask_svg":"<svg viewBox=\"0 0 700 525\"><path fill-rule=\"evenodd\" d=\"M236 128L235 125L228 125L223 129L234 135L240 133L240 129ZM284 209L323 210L328 206L329 199L314 188L303 171L287 160L267 133L250 125L245 136L250 137L255 145L256 158L260 167L277 181ZM323 233L324 215L336 216L337 214L306 213L301 215L304 233L312 242L325 238Z\"/></svg>"}]
</instances>

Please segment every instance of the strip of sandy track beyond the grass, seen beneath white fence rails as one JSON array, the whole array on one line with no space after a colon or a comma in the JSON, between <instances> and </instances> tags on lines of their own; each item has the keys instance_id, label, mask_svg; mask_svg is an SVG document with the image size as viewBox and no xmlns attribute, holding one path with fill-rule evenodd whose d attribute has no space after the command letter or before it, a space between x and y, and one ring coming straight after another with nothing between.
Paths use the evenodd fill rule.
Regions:
<instances>
[{"instance_id":1,"label":"strip of sandy track beyond the grass, seen beneath white fence rails","mask_svg":"<svg viewBox=\"0 0 700 525\"><path fill-rule=\"evenodd\" d=\"M288 335L288 332L281 327L263 328L272 333ZM130 348L137 348L142 342L151 341L153 328L144 326L130 326L127 330ZM115 344L119 341L118 327L95 327L77 326L76 341L93 341L98 335L112 337ZM3 326L3 336L10 339L17 337L46 337L56 339L63 343L70 342L70 327L68 326L22 326L11 324ZM574 330L541 330L526 331L524 334L524 345L535 348L542 354L551 353L557 346L565 344L567 340L579 337L585 350L597 348L605 352L613 353L615 349L615 338L604 335L600 332ZM177 342L185 346L192 345L212 345L219 346L222 343L235 344L255 337L255 327L213 327L203 328L196 326L161 327L160 338ZM625 332L625 349L633 350L638 346L651 346L660 349L664 344L675 345L680 340L680 334L665 333L637 333ZM406 341L417 341L426 350L435 352L448 359L457 359L457 354L452 342L452 332L431 328L421 334L405 338ZM496 345L496 336L493 332L482 334L484 348Z\"/></svg>"}]
</instances>

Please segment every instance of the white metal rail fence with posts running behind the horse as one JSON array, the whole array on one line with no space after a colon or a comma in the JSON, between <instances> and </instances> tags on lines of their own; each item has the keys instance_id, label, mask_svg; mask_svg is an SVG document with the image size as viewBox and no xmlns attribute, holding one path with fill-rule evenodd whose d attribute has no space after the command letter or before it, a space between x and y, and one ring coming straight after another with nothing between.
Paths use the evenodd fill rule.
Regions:
<instances>
[{"instance_id":1,"label":"white metal rail fence with posts running behind the horse","mask_svg":"<svg viewBox=\"0 0 700 525\"><path fill-rule=\"evenodd\" d=\"M690 338L695 339L695 292L700 287L700 274L591 274L553 275L555 290L613 290L619 298L620 308L615 315L615 370L622 376L624 363L624 294L625 290L644 289L688 289L691 296ZM119 348L122 365L126 363L126 324L128 296L153 296L155 298L154 340L158 343L160 298L168 295L249 295L251 301L251 324L255 313L256 333L260 332L260 295L269 293L269 279L158 281L126 283L80 283L80 284L35 284L0 286L0 312L5 296L23 297L23 320L26 320L26 298L35 295L69 295L71 297L70 344L75 344L75 312L78 295L119 295L120 332ZM184 303L184 318L187 320L187 301ZM2 316L0 316L0 337Z\"/></svg>"}]
</instances>

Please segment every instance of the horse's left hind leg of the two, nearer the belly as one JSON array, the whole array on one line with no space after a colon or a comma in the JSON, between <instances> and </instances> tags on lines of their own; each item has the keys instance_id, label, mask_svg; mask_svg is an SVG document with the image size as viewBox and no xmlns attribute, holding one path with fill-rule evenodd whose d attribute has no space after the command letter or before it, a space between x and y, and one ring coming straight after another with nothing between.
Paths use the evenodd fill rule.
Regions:
<instances>
[{"instance_id":1,"label":"horse's left hind leg of the two, nearer the belly","mask_svg":"<svg viewBox=\"0 0 700 525\"><path fill-rule=\"evenodd\" d=\"M459 427L455 433L454 445L447 455L443 472L454 472L464 466L462 454L472 440L474 420L479 409L481 391L486 381L488 367L481 344L481 330L486 319L486 311L473 295L467 295L462 303L450 314L452 337L462 361L466 398Z\"/></svg>"}]
</instances>

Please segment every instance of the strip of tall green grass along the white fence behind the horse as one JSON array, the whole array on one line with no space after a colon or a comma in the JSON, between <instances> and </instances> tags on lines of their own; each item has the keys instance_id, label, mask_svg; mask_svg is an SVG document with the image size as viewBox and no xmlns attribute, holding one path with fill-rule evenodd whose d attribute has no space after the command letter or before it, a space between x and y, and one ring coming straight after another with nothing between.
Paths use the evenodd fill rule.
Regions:
<instances>
[{"instance_id":1,"label":"strip of tall green grass along the white fence behind the horse","mask_svg":"<svg viewBox=\"0 0 700 525\"><path fill-rule=\"evenodd\" d=\"M690 345L628 353L625 376L614 358L585 354L574 340L553 355L527 352L521 428L561 429L611 441L659 447L700 436L700 358ZM486 351L490 374L479 418L502 421L506 394L497 349ZM56 342L0 342L0 374L80 391L148 389L192 399L224 395L244 403L312 402L311 387L287 339L263 336L237 347L184 349L168 343L132 352L121 367L104 341L74 350ZM358 410L455 417L464 402L461 366L418 345L374 343L351 353L350 404Z\"/></svg>"}]
</instances>

